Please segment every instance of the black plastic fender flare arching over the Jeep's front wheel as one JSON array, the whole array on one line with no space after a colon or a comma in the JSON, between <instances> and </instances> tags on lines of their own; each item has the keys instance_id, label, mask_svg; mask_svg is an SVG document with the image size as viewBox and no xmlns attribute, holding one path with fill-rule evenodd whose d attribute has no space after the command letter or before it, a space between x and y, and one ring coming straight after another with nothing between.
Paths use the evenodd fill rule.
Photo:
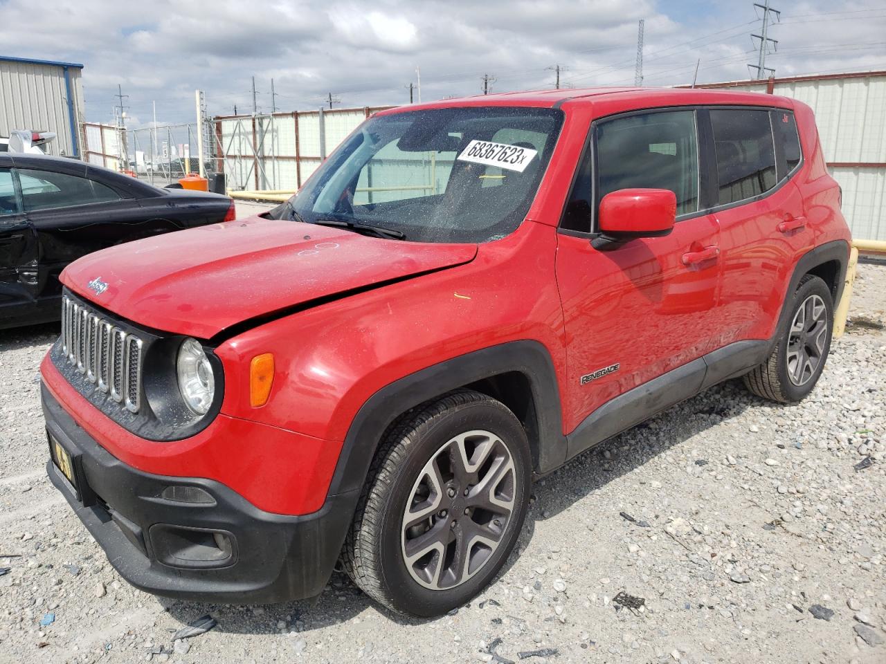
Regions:
<instances>
[{"instance_id":1,"label":"black plastic fender flare arching over the Jeep's front wheel","mask_svg":"<svg viewBox=\"0 0 886 664\"><path fill-rule=\"evenodd\" d=\"M566 436L554 361L543 344L514 341L444 360L373 394L347 430L328 496L361 489L385 430L400 414L451 390L509 372L524 374L530 384L540 469L544 472L561 465L566 459Z\"/></svg>"}]
</instances>

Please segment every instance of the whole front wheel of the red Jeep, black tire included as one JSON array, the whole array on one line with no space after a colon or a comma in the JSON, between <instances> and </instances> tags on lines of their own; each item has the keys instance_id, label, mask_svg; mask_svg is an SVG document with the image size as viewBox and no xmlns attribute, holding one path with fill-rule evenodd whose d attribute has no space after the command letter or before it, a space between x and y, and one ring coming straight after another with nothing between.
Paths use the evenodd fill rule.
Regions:
<instances>
[{"instance_id":1,"label":"whole front wheel of the red Jeep, black tire included","mask_svg":"<svg viewBox=\"0 0 886 664\"><path fill-rule=\"evenodd\" d=\"M456 463L459 455L468 463ZM516 544L531 474L525 430L494 398L460 390L418 406L388 430L369 468L345 541L346 573L401 614L462 606Z\"/></svg>"}]
</instances>

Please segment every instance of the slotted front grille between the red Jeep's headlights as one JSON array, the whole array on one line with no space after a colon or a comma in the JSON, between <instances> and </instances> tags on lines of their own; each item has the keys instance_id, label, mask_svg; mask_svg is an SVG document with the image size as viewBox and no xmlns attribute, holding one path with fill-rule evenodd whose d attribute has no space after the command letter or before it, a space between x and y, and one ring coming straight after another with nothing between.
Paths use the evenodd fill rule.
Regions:
<instances>
[{"instance_id":1,"label":"slotted front grille between the red Jeep's headlights","mask_svg":"<svg viewBox=\"0 0 886 664\"><path fill-rule=\"evenodd\" d=\"M138 413L142 395L139 336L114 325L88 306L62 298L62 352L83 380L110 394L130 413Z\"/></svg>"}]
</instances>

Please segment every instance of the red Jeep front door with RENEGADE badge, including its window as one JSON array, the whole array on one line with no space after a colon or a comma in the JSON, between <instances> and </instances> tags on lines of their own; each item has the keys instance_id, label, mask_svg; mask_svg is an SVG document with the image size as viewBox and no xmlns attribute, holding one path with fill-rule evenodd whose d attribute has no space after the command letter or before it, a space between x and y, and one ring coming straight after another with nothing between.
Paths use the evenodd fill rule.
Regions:
<instances>
[{"instance_id":1,"label":"red Jeep front door with RENEGADE badge, including its window","mask_svg":"<svg viewBox=\"0 0 886 664\"><path fill-rule=\"evenodd\" d=\"M596 122L593 134L594 151L579 166L557 244L568 430L611 398L711 351L718 328L711 314L719 283L719 228L700 204L696 112L617 116ZM588 231L600 200L630 188L676 194L672 233L595 248ZM711 258L696 260L704 251ZM701 375L693 375L677 388L691 395L700 382Z\"/></svg>"}]
</instances>

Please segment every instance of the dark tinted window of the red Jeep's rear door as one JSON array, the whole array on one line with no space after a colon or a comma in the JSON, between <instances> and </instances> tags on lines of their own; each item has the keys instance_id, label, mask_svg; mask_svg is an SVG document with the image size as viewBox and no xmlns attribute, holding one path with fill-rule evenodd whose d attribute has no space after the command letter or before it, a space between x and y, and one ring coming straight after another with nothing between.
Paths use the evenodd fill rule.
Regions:
<instances>
[{"instance_id":1,"label":"dark tinted window of the red Jeep's rear door","mask_svg":"<svg viewBox=\"0 0 886 664\"><path fill-rule=\"evenodd\" d=\"M766 193L777 184L769 112L752 109L711 111L717 152L719 205Z\"/></svg>"}]
</instances>

